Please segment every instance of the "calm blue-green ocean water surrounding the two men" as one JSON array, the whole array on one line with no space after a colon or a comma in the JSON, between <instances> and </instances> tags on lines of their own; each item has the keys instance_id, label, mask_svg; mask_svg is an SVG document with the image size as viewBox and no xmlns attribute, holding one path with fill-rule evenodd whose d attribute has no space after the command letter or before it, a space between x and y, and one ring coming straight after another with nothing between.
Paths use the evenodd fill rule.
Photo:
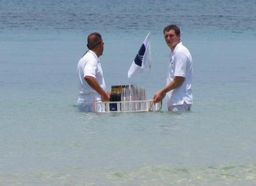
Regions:
<instances>
[{"instance_id":1,"label":"calm blue-green ocean water surrounding the two men","mask_svg":"<svg viewBox=\"0 0 256 186\"><path fill-rule=\"evenodd\" d=\"M255 1L0 1L0 185L255 185ZM111 85L165 84L177 24L192 111L79 113L88 34ZM150 31L152 68L127 72Z\"/></svg>"}]
</instances>

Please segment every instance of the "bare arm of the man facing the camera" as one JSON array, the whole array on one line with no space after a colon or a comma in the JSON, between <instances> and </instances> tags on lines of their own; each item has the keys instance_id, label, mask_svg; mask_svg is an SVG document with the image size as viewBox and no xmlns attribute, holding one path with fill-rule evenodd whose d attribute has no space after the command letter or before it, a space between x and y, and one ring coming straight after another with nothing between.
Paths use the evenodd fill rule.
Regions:
<instances>
[{"instance_id":1,"label":"bare arm of the man facing the camera","mask_svg":"<svg viewBox=\"0 0 256 186\"><path fill-rule=\"evenodd\" d=\"M166 93L176 89L177 87L179 87L180 85L182 85L182 83L185 81L185 77L182 76L176 76L174 78L174 80L172 82L169 83L169 85L167 85L163 90L160 90L159 92L156 92L155 96L153 97L154 102L158 103L160 101L162 101L164 99L164 97L166 96Z\"/></svg>"}]
</instances>

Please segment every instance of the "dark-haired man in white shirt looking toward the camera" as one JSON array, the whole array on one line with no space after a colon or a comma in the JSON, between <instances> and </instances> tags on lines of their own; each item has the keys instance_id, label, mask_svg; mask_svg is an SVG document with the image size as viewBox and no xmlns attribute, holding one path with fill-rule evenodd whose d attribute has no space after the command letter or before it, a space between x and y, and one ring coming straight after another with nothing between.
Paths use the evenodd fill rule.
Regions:
<instances>
[{"instance_id":1,"label":"dark-haired man in white shirt looking toward the camera","mask_svg":"<svg viewBox=\"0 0 256 186\"><path fill-rule=\"evenodd\" d=\"M167 98L169 111L189 111L193 104L192 76L193 61L188 48L180 42L180 29L177 25L164 28L164 39L171 49L170 65L166 87L154 95L154 102Z\"/></svg>"}]
</instances>

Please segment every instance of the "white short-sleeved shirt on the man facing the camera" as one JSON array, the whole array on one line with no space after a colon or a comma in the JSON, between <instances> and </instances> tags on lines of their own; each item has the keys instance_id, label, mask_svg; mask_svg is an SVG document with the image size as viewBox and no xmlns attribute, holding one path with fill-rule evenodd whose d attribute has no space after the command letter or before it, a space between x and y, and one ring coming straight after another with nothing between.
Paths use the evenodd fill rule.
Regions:
<instances>
[{"instance_id":1,"label":"white short-sleeved shirt on the man facing the camera","mask_svg":"<svg viewBox=\"0 0 256 186\"><path fill-rule=\"evenodd\" d=\"M180 105L186 101L187 104L193 104L192 96L192 76L193 76L193 61L188 48L184 47L180 42L170 54L170 66L166 78L168 85L176 76L185 77L185 81L177 87L166 93L168 107Z\"/></svg>"}]
</instances>

